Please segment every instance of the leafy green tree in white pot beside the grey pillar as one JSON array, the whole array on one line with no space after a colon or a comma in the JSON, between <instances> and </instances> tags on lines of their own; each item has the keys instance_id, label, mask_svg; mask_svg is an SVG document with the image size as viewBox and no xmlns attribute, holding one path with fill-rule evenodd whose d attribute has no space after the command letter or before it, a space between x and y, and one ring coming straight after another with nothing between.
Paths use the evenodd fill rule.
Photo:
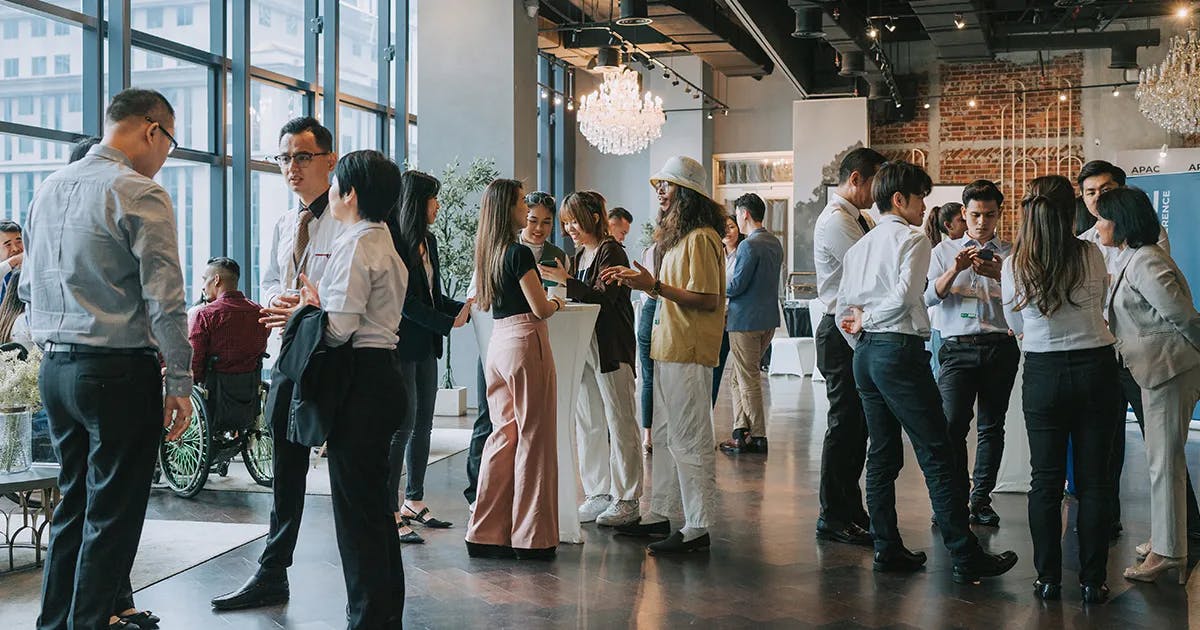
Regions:
<instances>
[{"instance_id":1,"label":"leafy green tree in white pot beside the grey pillar","mask_svg":"<svg viewBox=\"0 0 1200 630\"><path fill-rule=\"evenodd\" d=\"M475 158L462 169L458 161L442 170L442 190L438 202L442 210L431 226L438 240L442 262L442 290L448 298L462 300L470 286L475 269L475 232L479 229L479 193L500 173L492 160ZM455 386L451 368L451 337L446 337L445 372L433 406L438 415L463 415L467 413L467 388Z\"/></svg>"}]
</instances>

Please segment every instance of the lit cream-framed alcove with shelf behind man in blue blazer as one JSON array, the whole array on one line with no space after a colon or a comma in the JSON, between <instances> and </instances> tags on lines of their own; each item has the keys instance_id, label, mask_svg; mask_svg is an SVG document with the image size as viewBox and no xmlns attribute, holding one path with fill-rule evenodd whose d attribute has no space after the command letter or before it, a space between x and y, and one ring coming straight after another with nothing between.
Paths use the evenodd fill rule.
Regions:
<instances>
[{"instance_id":1,"label":"lit cream-framed alcove with shelf behind man in blue blazer","mask_svg":"<svg viewBox=\"0 0 1200 630\"><path fill-rule=\"evenodd\" d=\"M767 205L766 227L784 245L787 253L780 270L780 298L785 296L792 260L792 151L757 151L713 155L713 199L733 215L733 202L752 192Z\"/></svg>"}]
</instances>

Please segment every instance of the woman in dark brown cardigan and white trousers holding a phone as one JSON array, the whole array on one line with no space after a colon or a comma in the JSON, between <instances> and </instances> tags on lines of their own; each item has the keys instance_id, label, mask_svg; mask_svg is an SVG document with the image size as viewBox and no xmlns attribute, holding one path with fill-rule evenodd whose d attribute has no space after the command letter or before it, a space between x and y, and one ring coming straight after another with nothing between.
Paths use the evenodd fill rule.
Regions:
<instances>
[{"instance_id":1,"label":"woman in dark brown cardigan and white trousers holding a phone","mask_svg":"<svg viewBox=\"0 0 1200 630\"><path fill-rule=\"evenodd\" d=\"M559 218L575 241L574 277L540 266L545 278L566 286L566 296L600 305L575 414L580 478L587 500L580 522L606 527L637 520L642 496L642 457L634 404L634 305L629 287L600 280L610 266L629 266L625 248L608 235L604 199L577 192L563 202Z\"/></svg>"}]
</instances>

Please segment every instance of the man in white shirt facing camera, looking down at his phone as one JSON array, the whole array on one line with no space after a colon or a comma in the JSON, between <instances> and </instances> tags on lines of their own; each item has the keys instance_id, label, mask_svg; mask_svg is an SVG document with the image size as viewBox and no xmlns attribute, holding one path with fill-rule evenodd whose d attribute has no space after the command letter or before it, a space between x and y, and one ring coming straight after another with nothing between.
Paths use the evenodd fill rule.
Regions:
<instances>
[{"instance_id":1,"label":"man in white shirt facing camera, looking down at his phone","mask_svg":"<svg viewBox=\"0 0 1200 630\"><path fill-rule=\"evenodd\" d=\"M1000 457L1004 451L1004 414L1016 378L1020 349L1009 334L1000 296L1000 269L1013 246L996 234L1004 194L988 180L962 190L962 218L967 232L943 240L929 265L925 304L932 307L934 328L946 342L938 352L937 389L949 425L956 466L966 473L967 433L979 404L974 487L971 522L998 527L991 508ZM955 479L967 480L966 474Z\"/></svg>"}]
</instances>

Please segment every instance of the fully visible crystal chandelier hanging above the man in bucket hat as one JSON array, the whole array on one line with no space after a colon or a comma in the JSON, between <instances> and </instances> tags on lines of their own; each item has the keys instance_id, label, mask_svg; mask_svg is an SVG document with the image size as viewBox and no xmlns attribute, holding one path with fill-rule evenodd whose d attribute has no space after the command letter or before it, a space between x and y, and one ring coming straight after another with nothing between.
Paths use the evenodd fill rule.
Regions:
<instances>
[{"instance_id":1,"label":"fully visible crystal chandelier hanging above the man in bucket hat","mask_svg":"<svg viewBox=\"0 0 1200 630\"><path fill-rule=\"evenodd\" d=\"M625 66L604 70L604 83L580 103L580 133L601 154L636 154L662 136L662 97L641 94L638 74Z\"/></svg>"}]
</instances>

